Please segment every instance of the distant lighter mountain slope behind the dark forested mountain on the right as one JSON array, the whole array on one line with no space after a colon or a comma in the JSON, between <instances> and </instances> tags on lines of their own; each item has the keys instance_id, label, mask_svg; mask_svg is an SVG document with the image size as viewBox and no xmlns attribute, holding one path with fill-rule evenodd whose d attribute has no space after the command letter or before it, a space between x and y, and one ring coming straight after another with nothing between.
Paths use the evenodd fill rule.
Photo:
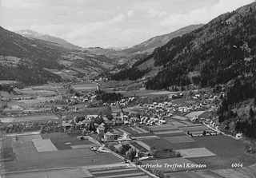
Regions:
<instances>
[{"instance_id":1,"label":"distant lighter mountain slope behind the dark forested mountain on the right","mask_svg":"<svg viewBox=\"0 0 256 178\"><path fill-rule=\"evenodd\" d=\"M166 45L167 42L169 42L172 38L176 38L179 36L182 36L182 34L187 34L193 30L196 30L203 25L192 25L192 26L186 26L180 30L176 30L170 34L163 34L161 36L157 36L154 38L150 38L146 42L142 42L139 45L134 45L133 47L129 49L124 49L123 52L126 53L152 53L154 49L157 47L160 47L162 45Z\"/></svg>"}]
</instances>

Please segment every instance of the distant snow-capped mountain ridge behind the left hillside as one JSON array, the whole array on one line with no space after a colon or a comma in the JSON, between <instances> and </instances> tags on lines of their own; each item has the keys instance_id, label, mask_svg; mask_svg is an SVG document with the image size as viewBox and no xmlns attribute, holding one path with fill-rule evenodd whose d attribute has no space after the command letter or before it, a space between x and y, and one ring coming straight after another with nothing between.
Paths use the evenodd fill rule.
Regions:
<instances>
[{"instance_id":1,"label":"distant snow-capped mountain ridge behind the left hillside","mask_svg":"<svg viewBox=\"0 0 256 178\"><path fill-rule=\"evenodd\" d=\"M79 47L78 45L73 45L70 42L66 42L62 38L56 38L56 37L50 36L48 34L38 34L38 32L35 32L33 30L18 30L18 31L15 31L15 33L20 34L26 38L36 38L36 39L40 39L40 40L45 40L47 42L57 43L66 48L81 49L81 47Z\"/></svg>"}]
</instances>

